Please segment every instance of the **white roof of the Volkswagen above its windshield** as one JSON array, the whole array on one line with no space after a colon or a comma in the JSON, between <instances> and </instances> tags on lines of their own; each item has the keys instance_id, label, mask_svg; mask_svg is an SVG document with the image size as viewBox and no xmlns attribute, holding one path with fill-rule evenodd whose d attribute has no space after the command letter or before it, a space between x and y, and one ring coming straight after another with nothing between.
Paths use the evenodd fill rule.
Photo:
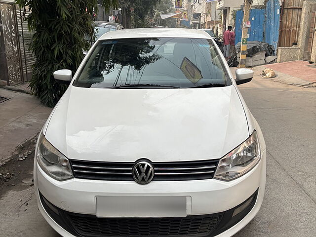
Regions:
<instances>
[{"instance_id":1,"label":"white roof of the Volkswagen above its windshield","mask_svg":"<svg viewBox=\"0 0 316 237\"><path fill-rule=\"evenodd\" d=\"M197 38L212 39L206 32L185 28L139 28L111 31L99 40L126 38Z\"/></svg>"}]
</instances>

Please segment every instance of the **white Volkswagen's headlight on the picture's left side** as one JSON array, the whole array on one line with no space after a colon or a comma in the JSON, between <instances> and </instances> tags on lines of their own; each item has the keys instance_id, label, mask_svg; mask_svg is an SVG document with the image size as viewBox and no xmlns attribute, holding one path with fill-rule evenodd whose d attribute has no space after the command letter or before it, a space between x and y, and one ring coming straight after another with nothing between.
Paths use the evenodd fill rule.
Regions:
<instances>
[{"instance_id":1,"label":"white Volkswagen's headlight on the picture's left side","mask_svg":"<svg viewBox=\"0 0 316 237\"><path fill-rule=\"evenodd\" d=\"M57 180L73 178L69 160L40 134L37 161L46 174Z\"/></svg>"}]
</instances>

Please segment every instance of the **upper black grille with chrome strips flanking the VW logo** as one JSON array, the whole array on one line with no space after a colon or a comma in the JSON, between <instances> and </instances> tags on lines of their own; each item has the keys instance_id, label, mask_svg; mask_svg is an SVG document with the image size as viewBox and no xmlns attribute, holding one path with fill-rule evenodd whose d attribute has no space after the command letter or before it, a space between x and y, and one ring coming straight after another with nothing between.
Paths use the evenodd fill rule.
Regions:
<instances>
[{"instance_id":1,"label":"upper black grille with chrome strips flanking the VW logo","mask_svg":"<svg viewBox=\"0 0 316 237\"><path fill-rule=\"evenodd\" d=\"M179 181L212 179L219 159L153 162L155 175L152 181ZM76 178L93 180L134 181L134 162L99 162L70 160Z\"/></svg>"}]
</instances>

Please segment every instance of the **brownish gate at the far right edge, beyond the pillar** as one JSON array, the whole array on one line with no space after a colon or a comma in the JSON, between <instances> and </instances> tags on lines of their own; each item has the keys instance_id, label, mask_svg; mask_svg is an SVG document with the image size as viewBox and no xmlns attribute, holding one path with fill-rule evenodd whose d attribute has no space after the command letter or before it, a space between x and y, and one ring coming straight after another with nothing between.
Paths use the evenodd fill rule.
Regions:
<instances>
[{"instance_id":1,"label":"brownish gate at the far right edge, beyond the pillar","mask_svg":"<svg viewBox=\"0 0 316 237\"><path fill-rule=\"evenodd\" d=\"M309 14L309 23L307 28L307 36L305 39L304 56L303 59L311 61L312 48L314 42L314 31L316 31L316 4L311 5Z\"/></svg>"}]
</instances>

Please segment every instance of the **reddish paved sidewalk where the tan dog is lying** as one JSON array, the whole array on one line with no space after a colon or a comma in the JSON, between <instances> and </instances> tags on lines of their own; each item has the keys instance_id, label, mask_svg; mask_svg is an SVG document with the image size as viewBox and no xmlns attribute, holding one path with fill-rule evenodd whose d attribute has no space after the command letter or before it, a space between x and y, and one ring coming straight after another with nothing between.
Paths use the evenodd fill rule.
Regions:
<instances>
[{"instance_id":1,"label":"reddish paved sidewalk where the tan dog is lying","mask_svg":"<svg viewBox=\"0 0 316 237\"><path fill-rule=\"evenodd\" d=\"M252 70L260 75L266 68L271 68L276 72L276 78L272 80L289 85L316 87L316 64L309 64L307 61L291 61L265 64L254 67Z\"/></svg>"}]
</instances>

